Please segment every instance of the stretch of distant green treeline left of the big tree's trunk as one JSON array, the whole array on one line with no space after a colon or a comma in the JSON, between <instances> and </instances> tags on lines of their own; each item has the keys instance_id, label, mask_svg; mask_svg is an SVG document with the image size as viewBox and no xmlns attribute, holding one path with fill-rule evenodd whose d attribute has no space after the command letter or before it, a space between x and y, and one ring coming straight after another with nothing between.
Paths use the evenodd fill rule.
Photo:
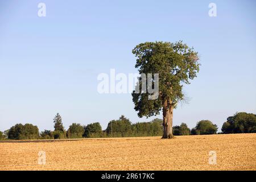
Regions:
<instances>
[{"instance_id":1,"label":"stretch of distant green treeline left of the big tree's trunk","mask_svg":"<svg viewBox=\"0 0 256 182\"><path fill-rule=\"evenodd\" d=\"M0 131L0 139L75 139L75 138L106 138L106 137L147 137L160 136L163 133L162 119L151 122L131 123L124 115L109 122L106 130L102 130L100 123L90 123L82 126L72 123L68 130L64 129L59 113L53 119L54 130L44 130L39 133L37 126L31 124L16 124L4 133Z\"/></svg>"}]
</instances>

